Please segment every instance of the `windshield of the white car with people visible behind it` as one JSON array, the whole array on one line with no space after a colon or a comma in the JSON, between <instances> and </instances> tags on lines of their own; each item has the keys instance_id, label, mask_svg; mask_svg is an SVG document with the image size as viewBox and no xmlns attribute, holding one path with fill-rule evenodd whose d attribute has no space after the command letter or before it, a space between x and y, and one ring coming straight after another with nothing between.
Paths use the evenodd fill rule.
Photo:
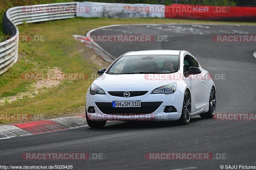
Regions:
<instances>
[{"instance_id":1,"label":"windshield of the white car with people visible behind it","mask_svg":"<svg viewBox=\"0 0 256 170\"><path fill-rule=\"evenodd\" d=\"M167 74L178 71L178 55L128 55L117 60L107 74Z\"/></svg>"}]
</instances>

